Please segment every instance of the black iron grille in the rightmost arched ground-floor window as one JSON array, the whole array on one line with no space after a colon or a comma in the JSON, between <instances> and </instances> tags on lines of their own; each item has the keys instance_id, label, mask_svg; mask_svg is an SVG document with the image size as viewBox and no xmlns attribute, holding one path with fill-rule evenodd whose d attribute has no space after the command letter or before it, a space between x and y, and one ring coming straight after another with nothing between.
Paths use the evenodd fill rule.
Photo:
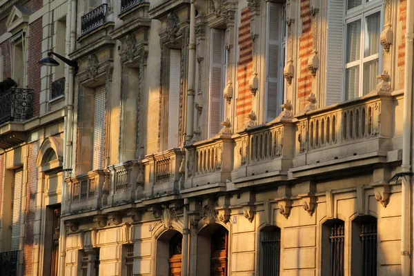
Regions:
<instances>
[{"instance_id":1,"label":"black iron grille in the rightmost arched ground-floor window","mask_svg":"<svg viewBox=\"0 0 414 276\"><path fill-rule=\"evenodd\" d=\"M362 224L362 256L364 276L377 275L377 223Z\"/></svg>"}]
</instances>

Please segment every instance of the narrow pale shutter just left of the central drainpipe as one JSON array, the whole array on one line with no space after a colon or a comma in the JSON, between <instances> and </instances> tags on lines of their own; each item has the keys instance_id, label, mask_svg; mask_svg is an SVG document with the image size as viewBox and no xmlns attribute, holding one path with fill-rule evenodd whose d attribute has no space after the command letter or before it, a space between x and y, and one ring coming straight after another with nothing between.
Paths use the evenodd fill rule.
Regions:
<instances>
[{"instance_id":1,"label":"narrow pale shutter just left of the central drainpipe","mask_svg":"<svg viewBox=\"0 0 414 276\"><path fill-rule=\"evenodd\" d=\"M170 90L168 93L168 148L178 146L179 81L181 50L170 50Z\"/></svg>"}]
</instances>

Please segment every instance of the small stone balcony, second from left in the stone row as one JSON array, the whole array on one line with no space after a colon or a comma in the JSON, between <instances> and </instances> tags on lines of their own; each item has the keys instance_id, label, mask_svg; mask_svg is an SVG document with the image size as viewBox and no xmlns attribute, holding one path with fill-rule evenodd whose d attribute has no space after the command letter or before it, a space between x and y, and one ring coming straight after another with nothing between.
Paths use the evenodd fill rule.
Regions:
<instances>
[{"instance_id":1,"label":"small stone balcony, second from left in the stone row","mask_svg":"<svg viewBox=\"0 0 414 276\"><path fill-rule=\"evenodd\" d=\"M133 203L144 191L144 164L139 161L108 166L110 191L108 206Z\"/></svg>"}]
</instances>

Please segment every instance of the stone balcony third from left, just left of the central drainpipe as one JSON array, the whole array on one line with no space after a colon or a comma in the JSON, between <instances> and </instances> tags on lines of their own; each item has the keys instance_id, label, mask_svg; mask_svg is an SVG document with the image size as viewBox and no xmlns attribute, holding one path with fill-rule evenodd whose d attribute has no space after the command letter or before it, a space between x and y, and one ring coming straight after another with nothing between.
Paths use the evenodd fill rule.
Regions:
<instances>
[{"instance_id":1,"label":"stone balcony third from left, just left of the central drainpipe","mask_svg":"<svg viewBox=\"0 0 414 276\"><path fill-rule=\"evenodd\" d=\"M145 166L145 199L164 200L178 195L179 186L184 182L185 152L172 148L155 155L147 155L143 160ZM164 197L164 199L159 199Z\"/></svg>"}]
</instances>

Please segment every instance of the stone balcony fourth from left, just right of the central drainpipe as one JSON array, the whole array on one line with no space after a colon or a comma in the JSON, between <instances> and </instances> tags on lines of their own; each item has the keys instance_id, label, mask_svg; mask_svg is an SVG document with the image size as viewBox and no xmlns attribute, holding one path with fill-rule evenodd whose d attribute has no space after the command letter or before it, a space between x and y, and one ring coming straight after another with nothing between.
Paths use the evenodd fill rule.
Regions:
<instances>
[{"instance_id":1,"label":"stone balcony fourth from left, just right of the central drainpipe","mask_svg":"<svg viewBox=\"0 0 414 276\"><path fill-rule=\"evenodd\" d=\"M231 181L234 147L230 135L217 135L186 146L188 160L185 188L208 184L221 186Z\"/></svg>"}]
</instances>

